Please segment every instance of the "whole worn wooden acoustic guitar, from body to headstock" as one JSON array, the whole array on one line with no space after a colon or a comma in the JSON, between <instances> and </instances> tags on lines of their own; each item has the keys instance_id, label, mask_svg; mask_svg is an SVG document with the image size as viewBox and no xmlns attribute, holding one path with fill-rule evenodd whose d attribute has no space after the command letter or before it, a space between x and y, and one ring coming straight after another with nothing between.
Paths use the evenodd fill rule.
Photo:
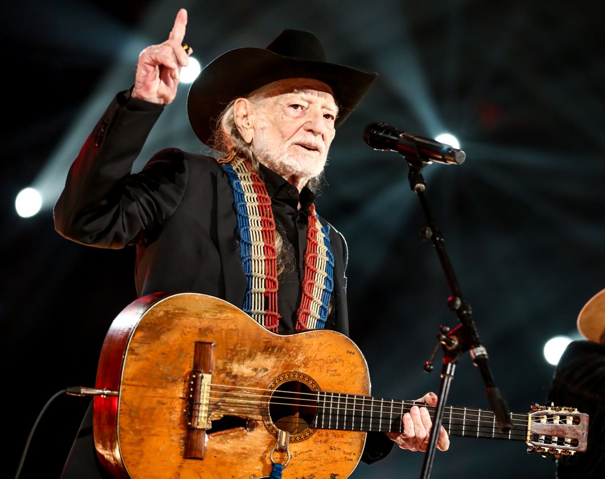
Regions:
<instances>
[{"instance_id":1,"label":"whole worn wooden acoustic guitar, from body to headstock","mask_svg":"<svg viewBox=\"0 0 605 479\"><path fill-rule=\"evenodd\" d=\"M369 431L401 431L416 404L371 397L367 364L348 337L271 333L234 305L195 293L144 296L114 319L94 398L94 441L115 477L287 478L352 474ZM429 408L431 411L434 408ZM586 449L588 417L540 406L503 434L485 409L446 406L453 437ZM288 438L277 447L279 431Z\"/></svg>"}]
</instances>

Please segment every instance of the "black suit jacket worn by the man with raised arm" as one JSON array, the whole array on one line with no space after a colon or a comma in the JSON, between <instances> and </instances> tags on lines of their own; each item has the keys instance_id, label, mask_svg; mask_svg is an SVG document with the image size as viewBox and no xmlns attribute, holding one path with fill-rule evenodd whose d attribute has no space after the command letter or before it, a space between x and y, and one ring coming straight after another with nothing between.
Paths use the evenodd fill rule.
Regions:
<instances>
[{"instance_id":1,"label":"black suit jacket worn by the man with raised arm","mask_svg":"<svg viewBox=\"0 0 605 479\"><path fill-rule=\"evenodd\" d=\"M241 307L247 282L234 198L217 161L165 149L131 174L161 111L127 93L117 96L70 169L54 209L56 229L91 246L136 245L139 296L195 292ZM329 236L335 267L327 327L348 334L347 248L334 227Z\"/></svg>"}]
</instances>

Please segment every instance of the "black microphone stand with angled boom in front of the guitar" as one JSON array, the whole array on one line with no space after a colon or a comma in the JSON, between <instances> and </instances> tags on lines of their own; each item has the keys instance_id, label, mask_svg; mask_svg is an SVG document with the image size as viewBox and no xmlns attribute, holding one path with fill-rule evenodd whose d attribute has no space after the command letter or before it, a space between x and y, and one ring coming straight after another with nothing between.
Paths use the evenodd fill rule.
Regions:
<instances>
[{"instance_id":1,"label":"black microphone stand with angled boom in front of the guitar","mask_svg":"<svg viewBox=\"0 0 605 479\"><path fill-rule=\"evenodd\" d=\"M417 151L416 157L413 155L410 156L409 152L402 156L405 161L407 161L410 170L408 174L410 187L412 191L417 194L428 221L428 226L422 229L421 238L424 241L430 240L437 251L443 272L445 273L448 285L450 285L451 296L448 298L448 307L454 311L460 322L453 330L450 330L450 328L446 326L440 327L439 333L437 334L437 341L442 344L443 349L439 401L437 402L427 454L425 455L422 473L420 475L420 478L428 479L431 475L431 469L433 468L435 451L437 449L437 439L439 438L440 426L443 422L443 411L445 409L446 399L450 393L450 385L454 379L454 371L456 370L456 365L461 353L470 351L474 365L479 367L483 382L485 383L488 400L494 411L494 416L498 422L500 431L508 432L511 429L512 424L511 412L505 399L502 397L502 394L500 394L500 389L495 385L494 378L489 370L488 353L479 339L479 333L477 332L477 328L473 321L471 305L462 295L462 290L460 290L460 285L458 284L450 258L445 249L443 235L434 220L433 213L431 213L431 209L427 203L427 198L425 198L427 183L422 177L422 169L430 163L420 160ZM433 370L433 365L431 361L427 361L425 363L425 371L430 372L431 370Z\"/></svg>"}]
</instances>

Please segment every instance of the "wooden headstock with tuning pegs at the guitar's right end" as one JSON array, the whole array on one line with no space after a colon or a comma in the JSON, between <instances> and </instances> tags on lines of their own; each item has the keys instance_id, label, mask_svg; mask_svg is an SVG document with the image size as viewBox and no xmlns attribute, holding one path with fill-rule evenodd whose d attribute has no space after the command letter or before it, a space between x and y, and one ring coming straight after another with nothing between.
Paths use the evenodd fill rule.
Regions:
<instances>
[{"instance_id":1,"label":"wooden headstock with tuning pegs at the guitar's right end","mask_svg":"<svg viewBox=\"0 0 605 479\"><path fill-rule=\"evenodd\" d=\"M528 452L572 455L586 451L588 414L575 408L532 404L528 413Z\"/></svg>"}]
</instances>

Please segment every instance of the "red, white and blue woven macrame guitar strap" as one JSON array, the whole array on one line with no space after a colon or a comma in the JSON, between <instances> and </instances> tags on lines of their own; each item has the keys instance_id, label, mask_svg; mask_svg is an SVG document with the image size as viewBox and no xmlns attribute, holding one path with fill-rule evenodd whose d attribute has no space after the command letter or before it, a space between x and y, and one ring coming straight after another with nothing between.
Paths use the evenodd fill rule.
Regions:
<instances>
[{"instance_id":1,"label":"red, white and blue woven macrame guitar strap","mask_svg":"<svg viewBox=\"0 0 605 479\"><path fill-rule=\"evenodd\" d=\"M264 181L249 161L235 153L220 158L234 195L240 236L240 259L247 279L242 309L268 330L277 332L277 254L275 220ZM301 302L296 311L296 330L323 329L334 290L334 256L330 226L322 226L315 205L309 207L307 247Z\"/></svg>"}]
</instances>

